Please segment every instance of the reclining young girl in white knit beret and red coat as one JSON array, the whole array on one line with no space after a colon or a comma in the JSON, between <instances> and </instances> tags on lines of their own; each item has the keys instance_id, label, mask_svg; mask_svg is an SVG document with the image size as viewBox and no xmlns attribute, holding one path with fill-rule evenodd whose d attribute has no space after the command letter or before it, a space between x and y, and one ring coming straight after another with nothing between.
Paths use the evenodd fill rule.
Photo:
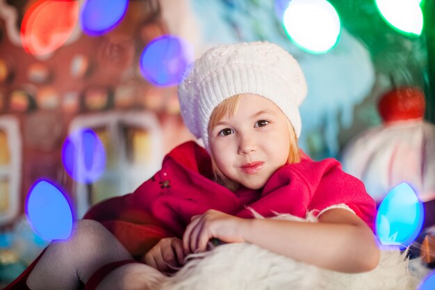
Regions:
<instances>
[{"instance_id":1,"label":"reclining young girl in white knit beret and red coat","mask_svg":"<svg viewBox=\"0 0 435 290\"><path fill-rule=\"evenodd\" d=\"M6 289L149 289L155 271L183 266L211 239L334 271L375 268L375 202L338 161L297 147L304 97L302 70L277 45L208 50L179 86L183 120L205 150L176 147L154 177L92 207L72 239L51 243ZM277 213L314 213L318 223L268 218Z\"/></svg>"}]
</instances>

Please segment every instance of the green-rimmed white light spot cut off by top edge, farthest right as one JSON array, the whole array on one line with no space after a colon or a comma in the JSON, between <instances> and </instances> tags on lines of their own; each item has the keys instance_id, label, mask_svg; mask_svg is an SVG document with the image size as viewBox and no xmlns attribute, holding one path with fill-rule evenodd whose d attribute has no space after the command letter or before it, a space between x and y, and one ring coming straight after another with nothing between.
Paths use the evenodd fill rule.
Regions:
<instances>
[{"instance_id":1,"label":"green-rimmed white light spot cut off by top edge, farthest right","mask_svg":"<svg viewBox=\"0 0 435 290\"><path fill-rule=\"evenodd\" d=\"M420 35L423 14L418 0L376 0L376 6L385 21L405 34Z\"/></svg>"}]
</instances>

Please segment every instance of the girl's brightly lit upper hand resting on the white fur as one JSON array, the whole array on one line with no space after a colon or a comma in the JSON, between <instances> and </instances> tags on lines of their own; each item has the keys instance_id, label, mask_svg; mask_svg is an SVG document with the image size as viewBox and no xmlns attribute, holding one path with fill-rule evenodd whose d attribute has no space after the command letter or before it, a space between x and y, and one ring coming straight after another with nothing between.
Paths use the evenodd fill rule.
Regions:
<instances>
[{"instance_id":1,"label":"girl's brightly lit upper hand resting on the white fur","mask_svg":"<svg viewBox=\"0 0 435 290\"><path fill-rule=\"evenodd\" d=\"M192 216L183 234L184 252L204 252L208 240L220 239L224 243L243 243L243 230L249 220L221 211L209 209L204 214Z\"/></svg>"}]
</instances>

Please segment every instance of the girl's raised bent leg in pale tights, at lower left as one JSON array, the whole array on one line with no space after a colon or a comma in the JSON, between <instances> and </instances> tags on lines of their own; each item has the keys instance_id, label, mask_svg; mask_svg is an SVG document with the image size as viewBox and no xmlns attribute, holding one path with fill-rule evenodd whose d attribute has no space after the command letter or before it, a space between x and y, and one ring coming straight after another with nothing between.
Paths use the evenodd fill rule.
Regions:
<instances>
[{"instance_id":1,"label":"girl's raised bent leg in pale tights, at lower left","mask_svg":"<svg viewBox=\"0 0 435 290\"><path fill-rule=\"evenodd\" d=\"M95 220L79 220L72 238L48 246L26 284L32 290L75 290L101 266L125 259L133 257L106 227Z\"/></svg>"}]
</instances>

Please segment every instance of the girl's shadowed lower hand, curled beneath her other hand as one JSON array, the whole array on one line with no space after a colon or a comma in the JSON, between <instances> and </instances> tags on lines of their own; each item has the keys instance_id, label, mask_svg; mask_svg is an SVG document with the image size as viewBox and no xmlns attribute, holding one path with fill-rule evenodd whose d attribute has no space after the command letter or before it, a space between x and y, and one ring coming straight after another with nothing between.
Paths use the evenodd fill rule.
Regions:
<instances>
[{"instance_id":1,"label":"girl's shadowed lower hand, curled beneath her other hand","mask_svg":"<svg viewBox=\"0 0 435 290\"><path fill-rule=\"evenodd\" d=\"M163 238L144 257L145 264L161 272L175 272L184 264L183 241Z\"/></svg>"}]
</instances>

